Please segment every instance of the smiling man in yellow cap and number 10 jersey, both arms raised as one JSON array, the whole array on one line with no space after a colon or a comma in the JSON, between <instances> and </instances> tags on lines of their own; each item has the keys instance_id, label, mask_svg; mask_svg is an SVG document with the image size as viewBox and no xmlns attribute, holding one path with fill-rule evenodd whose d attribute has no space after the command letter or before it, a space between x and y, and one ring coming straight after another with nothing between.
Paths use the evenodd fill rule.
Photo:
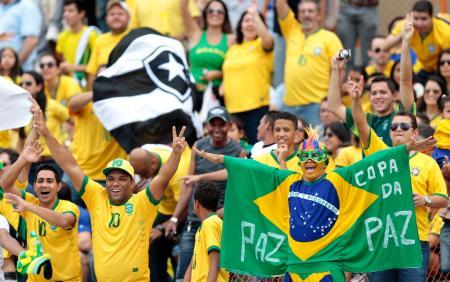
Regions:
<instances>
[{"instance_id":1,"label":"smiling man in yellow cap and number 10 jersey, both arms raised","mask_svg":"<svg viewBox=\"0 0 450 282\"><path fill-rule=\"evenodd\" d=\"M103 169L106 189L85 175L70 152L50 134L41 110L33 111L33 127L44 137L52 156L69 175L86 203L92 220L95 274L99 281L148 281L150 230L164 189L175 174L187 146L173 127L172 152L147 186L133 194L134 170L124 159L114 159Z\"/></svg>"}]
</instances>

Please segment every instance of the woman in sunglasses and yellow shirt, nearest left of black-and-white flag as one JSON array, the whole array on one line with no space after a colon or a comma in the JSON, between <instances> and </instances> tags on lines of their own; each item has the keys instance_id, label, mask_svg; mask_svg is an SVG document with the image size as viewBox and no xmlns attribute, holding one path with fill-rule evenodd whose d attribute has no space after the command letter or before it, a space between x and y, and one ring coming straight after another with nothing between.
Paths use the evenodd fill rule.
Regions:
<instances>
[{"instance_id":1,"label":"woman in sunglasses and yellow shirt, nearest left of black-and-white flag","mask_svg":"<svg viewBox=\"0 0 450 282\"><path fill-rule=\"evenodd\" d=\"M81 92L77 81L70 76L61 75L59 65L52 54L43 55L39 67L45 80L44 93L67 107L70 98Z\"/></svg>"}]
</instances>

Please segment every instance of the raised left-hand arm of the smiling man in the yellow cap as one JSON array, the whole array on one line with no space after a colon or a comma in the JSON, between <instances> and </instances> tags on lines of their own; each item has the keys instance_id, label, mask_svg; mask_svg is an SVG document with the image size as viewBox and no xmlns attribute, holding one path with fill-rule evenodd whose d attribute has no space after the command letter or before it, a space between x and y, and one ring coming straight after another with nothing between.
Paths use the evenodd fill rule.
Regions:
<instances>
[{"instance_id":1,"label":"raised left-hand arm of the smiling man in the yellow cap","mask_svg":"<svg viewBox=\"0 0 450 282\"><path fill-rule=\"evenodd\" d=\"M81 190L83 185L84 173L78 166L72 154L63 145L59 144L56 138L50 133L45 124L44 115L41 110L33 112L34 122L33 127L37 130L39 135L44 137L48 148L56 163L69 175L76 191Z\"/></svg>"}]
</instances>

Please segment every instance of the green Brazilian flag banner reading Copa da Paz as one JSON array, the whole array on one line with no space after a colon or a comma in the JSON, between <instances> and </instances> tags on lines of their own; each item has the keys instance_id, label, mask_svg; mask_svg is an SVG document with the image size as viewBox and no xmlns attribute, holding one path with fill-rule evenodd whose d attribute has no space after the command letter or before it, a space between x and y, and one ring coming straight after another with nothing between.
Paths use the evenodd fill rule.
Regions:
<instances>
[{"instance_id":1,"label":"green Brazilian flag banner reading Copa da Paz","mask_svg":"<svg viewBox=\"0 0 450 282\"><path fill-rule=\"evenodd\" d=\"M314 182L253 160L228 171L221 267L267 277L420 267L406 147Z\"/></svg>"}]
</instances>

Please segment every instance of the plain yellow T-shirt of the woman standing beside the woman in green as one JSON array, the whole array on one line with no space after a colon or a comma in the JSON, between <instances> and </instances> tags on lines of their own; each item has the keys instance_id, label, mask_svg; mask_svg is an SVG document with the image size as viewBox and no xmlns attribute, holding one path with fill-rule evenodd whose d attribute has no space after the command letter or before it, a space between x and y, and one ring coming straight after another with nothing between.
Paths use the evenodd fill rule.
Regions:
<instances>
[{"instance_id":1,"label":"plain yellow T-shirt of the woman standing beside the woman in green","mask_svg":"<svg viewBox=\"0 0 450 282\"><path fill-rule=\"evenodd\" d=\"M228 49L222 66L225 105L230 113L269 105L273 51L266 51L261 38Z\"/></svg>"}]
</instances>

